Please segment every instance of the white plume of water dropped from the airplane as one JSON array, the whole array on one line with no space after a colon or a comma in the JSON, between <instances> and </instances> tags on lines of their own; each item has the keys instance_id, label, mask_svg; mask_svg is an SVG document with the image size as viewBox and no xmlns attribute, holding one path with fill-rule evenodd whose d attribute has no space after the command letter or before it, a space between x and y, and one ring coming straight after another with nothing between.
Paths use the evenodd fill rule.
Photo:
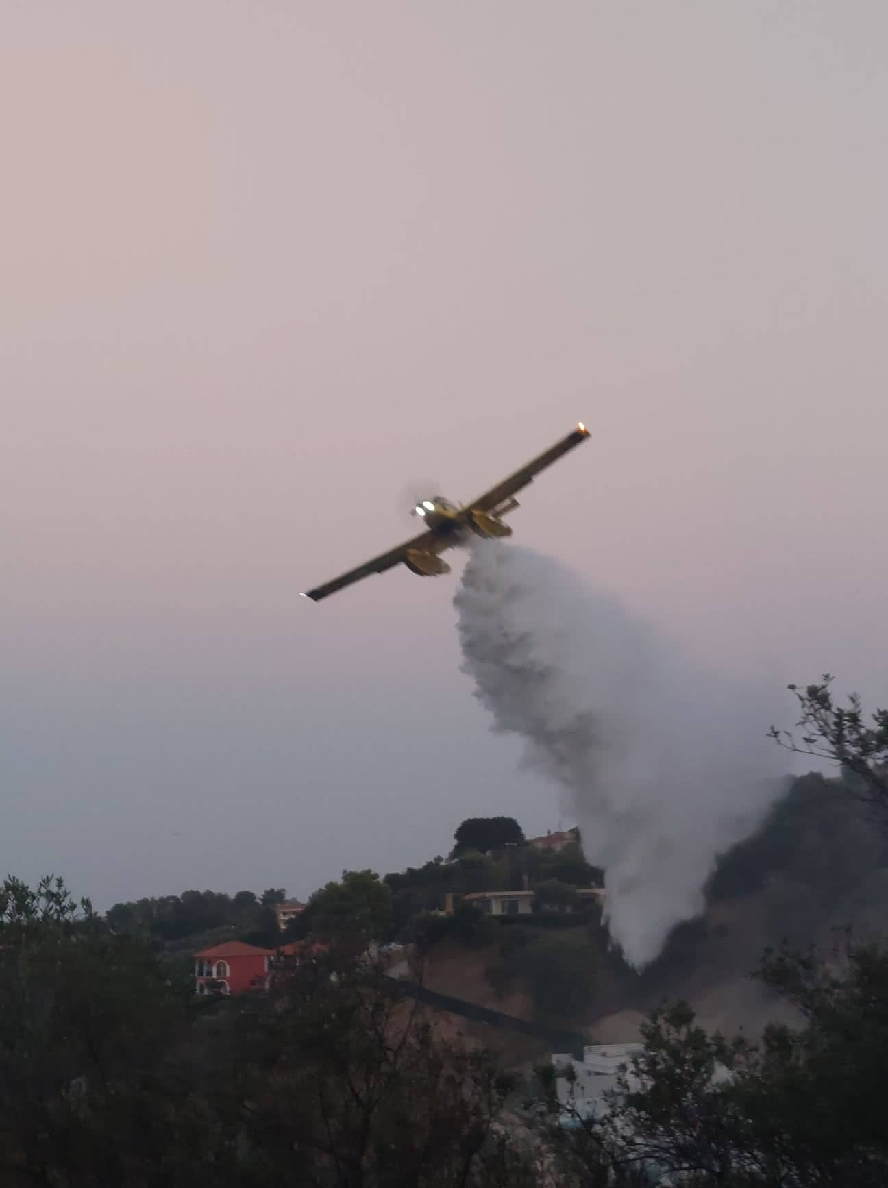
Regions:
<instances>
[{"instance_id":1,"label":"white plume of water dropped from the airplane","mask_svg":"<svg viewBox=\"0 0 888 1188\"><path fill-rule=\"evenodd\" d=\"M560 786L605 871L611 937L641 968L777 792L767 712L531 550L477 544L454 604L474 695Z\"/></svg>"}]
</instances>

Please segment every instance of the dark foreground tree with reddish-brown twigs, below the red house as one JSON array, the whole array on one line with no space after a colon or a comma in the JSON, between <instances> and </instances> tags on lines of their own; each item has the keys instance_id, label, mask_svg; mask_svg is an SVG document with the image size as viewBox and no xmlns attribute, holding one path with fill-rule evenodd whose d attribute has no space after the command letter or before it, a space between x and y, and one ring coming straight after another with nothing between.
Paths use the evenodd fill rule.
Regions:
<instances>
[{"instance_id":1,"label":"dark foreground tree with reddish-brown twigs, below the red house","mask_svg":"<svg viewBox=\"0 0 888 1188\"><path fill-rule=\"evenodd\" d=\"M512 1079L489 1053L441 1038L373 966L296 967L271 1009L245 1004L221 1059L235 1081L237 1157L257 1188L539 1183L497 1126Z\"/></svg>"}]
</instances>

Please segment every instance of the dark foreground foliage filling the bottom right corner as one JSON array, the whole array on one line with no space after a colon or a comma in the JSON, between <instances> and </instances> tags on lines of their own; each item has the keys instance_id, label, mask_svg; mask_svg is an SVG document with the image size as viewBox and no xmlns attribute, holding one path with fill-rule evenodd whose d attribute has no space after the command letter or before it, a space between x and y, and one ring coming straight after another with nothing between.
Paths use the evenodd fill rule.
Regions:
<instances>
[{"instance_id":1,"label":"dark foreground foliage filling the bottom right corner","mask_svg":"<svg viewBox=\"0 0 888 1188\"><path fill-rule=\"evenodd\" d=\"M609 1108L562 1142L613 1182L644 1168L692 1184L876 1188L888 1177L888 953L770 953L761 979L799 1012L758 1044L707 1035L686 1004L655 1011ZM554 1100L550 1097L550 1105ZM610 1182L602 1180L602 1183Z\"/></svg>"}]
</instances>

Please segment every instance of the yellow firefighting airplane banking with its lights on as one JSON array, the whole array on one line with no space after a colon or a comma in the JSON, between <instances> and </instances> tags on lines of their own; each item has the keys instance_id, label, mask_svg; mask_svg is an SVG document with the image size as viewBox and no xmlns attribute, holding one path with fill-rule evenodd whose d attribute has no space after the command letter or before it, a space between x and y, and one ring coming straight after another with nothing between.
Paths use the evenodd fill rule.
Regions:
<instances>
[{"instance_id":1,"label":"yellow firefighting airplane banking with its lights on","mask_svg":"<svg viewBox=\"0 0 888 1188\"><path fill-rule=\"evenodd\" d=\"M527 487L528 484L534 481L535 474L544 470L547 466L552 466L562 454L567 454L568 450L572 450L574 446L579 446L587 437L588 429L580 421L567 437L562 437L560 442L547 449L544 454L535 457L533 462L528 462L527 466L516 470L515 474L504 479L503 482L492 487L480 499L476 499L471 504L456 507L441 495L423 499L414 508L414 514L426 522L426 531L421 536L415 536L412 541L405 541L397 549L384 552L379 557L373 557L372 561L358 565L357 569L349 569L341 577L334 577L332 582L317 586L315 589L306 592L302 596L320 602L322 598L335 594L336 590L351 586L352 582L360 581L361 577L367 577L370 574L382 574L386 569L392 569L395 565L402 563L415 574L423 576L448 574L451 567L446 561L441 561L439 557L440 552L459 544L464 539L467 529L477 532L478 536L511 536L512 530L508 524L503 523L502 517L506 512L515 511L518 506L518 501L514 498L516 491Z\"/></svg>"}]
</instances>

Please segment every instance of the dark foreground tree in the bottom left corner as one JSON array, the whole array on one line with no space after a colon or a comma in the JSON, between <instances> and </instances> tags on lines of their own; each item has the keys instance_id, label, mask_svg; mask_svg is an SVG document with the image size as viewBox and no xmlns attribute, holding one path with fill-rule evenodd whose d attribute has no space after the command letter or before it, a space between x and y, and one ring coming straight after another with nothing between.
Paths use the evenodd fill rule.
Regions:
<instances>
[{"instance_id":1,"label":"dark foreground tree in the bottom left corner","mask_svg":"<svg viewBox=\"0 0 888 1188\"><path fill-rule=\"evenodd\" d=\"M188 1063L175 1067L190 1004L145 943L114 935L61 879L7 879L0 1000L5 1186L202 1182L209 1132Z\"/></svg>"}]
</instances>

